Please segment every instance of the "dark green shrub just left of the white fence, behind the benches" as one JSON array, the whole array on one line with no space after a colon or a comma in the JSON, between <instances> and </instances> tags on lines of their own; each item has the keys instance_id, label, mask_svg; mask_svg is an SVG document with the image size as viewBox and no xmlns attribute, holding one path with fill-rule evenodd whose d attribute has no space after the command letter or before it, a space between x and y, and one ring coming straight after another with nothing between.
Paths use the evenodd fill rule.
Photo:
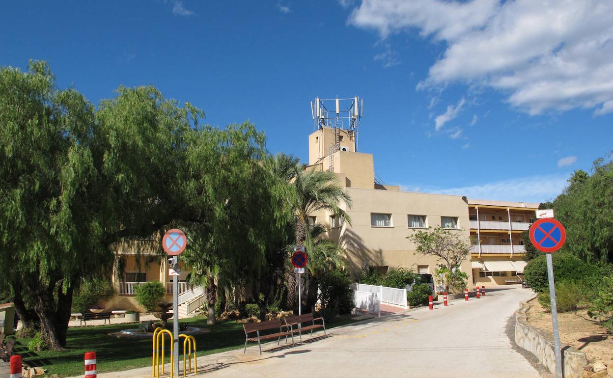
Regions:
<instances>
[{"instance_id":1,"label":"dark green shrub just left of the white fence, behind the benches","mask_svg":"<svg viewBox=\"0 0 613 378\"><path fill-rule=\"evenodd\" d=\"M349 275L343 270L326 271L318 276L318 281L322 308L336 308L340 314L349 314L354 308Z\"/></svg>"}]
</instances>

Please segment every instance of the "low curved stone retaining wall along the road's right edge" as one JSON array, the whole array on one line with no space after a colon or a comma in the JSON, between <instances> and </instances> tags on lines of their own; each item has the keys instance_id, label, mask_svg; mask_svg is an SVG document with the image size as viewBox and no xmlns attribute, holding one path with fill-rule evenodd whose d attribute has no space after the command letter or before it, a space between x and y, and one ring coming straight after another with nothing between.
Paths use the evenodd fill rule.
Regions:
<instances>
[{"instance_id":1,"label":"low curved stone retaining wall along the road's right edge","mask_svg":"<svg viewBox=\"0 0 613 378\"><path fill-rule=\"evenodd\" d=\"M528 307L528 301L522 301L515 312L515 343L535 355L541 364L555 374L554 335L528 323L526 315ZM583 368L587 365L585 353L566 344L560 344L560 347L562 347L563 376L581 378Z\"/></svg>"}]
</instances>

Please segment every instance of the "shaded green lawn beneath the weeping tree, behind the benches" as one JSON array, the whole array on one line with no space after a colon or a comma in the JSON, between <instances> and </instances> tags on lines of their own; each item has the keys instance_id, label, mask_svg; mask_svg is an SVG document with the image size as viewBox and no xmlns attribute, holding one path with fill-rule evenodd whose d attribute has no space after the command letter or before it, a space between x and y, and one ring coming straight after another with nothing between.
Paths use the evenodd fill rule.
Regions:
<instances>
[{"instance_id":1,"label":"shaded green lawn beneath the weeping tree, behind the benches","mask_svg":"<svg viewBox=\"0 0 613 378\"><path fill-rule=\"evenodd\" d=\"M207 325L204 316L181 319L181 323L189 323L191 327L209 328L211 331L194 335L196 338L197 355L209 355L226 350L242 348L245 343L245 333L242 323L224 322ZM341 317L330 325L352 323L348 317ZM58 374L60 377L71 377L83 374L83 354L95 351L97 371L110 372L151 366L151 338L117 338L109 336L128 328L137 328L138 323L123 323L117 325L98 325L93 327L70 327L67 336L66 350L28 350L31 339L17 339L16 353L23 357L29 366L42 366L47 374ZM253 344L250 344L253 345ZM182 348L182 347L181 347Z\"/></svg>"}]
</instances>

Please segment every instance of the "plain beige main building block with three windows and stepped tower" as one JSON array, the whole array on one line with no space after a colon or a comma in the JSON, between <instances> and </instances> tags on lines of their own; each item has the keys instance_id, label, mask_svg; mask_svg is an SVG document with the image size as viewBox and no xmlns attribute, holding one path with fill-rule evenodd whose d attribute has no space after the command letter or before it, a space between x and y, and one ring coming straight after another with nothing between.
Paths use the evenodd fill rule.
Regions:
<instances>
[{"instance_id":1,"label":"plain beige main building block with three windows and stepped tower","mask_svg":"<svg viewBox=\"0 0 613 378\"><path fill-rule=\"evenodd\" d=\"M332 146L332 148L329 148ZM407 236L427 227L442 226L468 240L468 203L459 195L400 191L398 186L375 182L373 155L356 152L350 130L321 127L309 136L310 169L337 174L352 199L345 209L351 224L338 224L329 213L314 214L311 222L329 228L329 237L346 251L353 273L372 267L381 273L404 266L419 273L434 273L440 263L435 257L416 253ZM473 270L467 259L461 270L473 283Z\"/></svg>"}]
</instances>

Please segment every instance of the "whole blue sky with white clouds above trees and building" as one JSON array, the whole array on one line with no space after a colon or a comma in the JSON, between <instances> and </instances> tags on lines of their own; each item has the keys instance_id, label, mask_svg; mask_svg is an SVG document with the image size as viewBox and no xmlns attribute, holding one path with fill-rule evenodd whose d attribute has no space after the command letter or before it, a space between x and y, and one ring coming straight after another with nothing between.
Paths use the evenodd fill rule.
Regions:
<instances>
[{"instance_id":1,"label":"whole blue sky with white clouds above trees and building","mask_svg":"<svg viewBox=\"0 0 613 378\"><path fill-rule=\"evenodd\" d=\"M539 202L613 150L612 4L6 2L0 65L45 59L94 104L152 84L305 161L310 100L357 95L384 183Z\"/></svg>"}]
</instances>

